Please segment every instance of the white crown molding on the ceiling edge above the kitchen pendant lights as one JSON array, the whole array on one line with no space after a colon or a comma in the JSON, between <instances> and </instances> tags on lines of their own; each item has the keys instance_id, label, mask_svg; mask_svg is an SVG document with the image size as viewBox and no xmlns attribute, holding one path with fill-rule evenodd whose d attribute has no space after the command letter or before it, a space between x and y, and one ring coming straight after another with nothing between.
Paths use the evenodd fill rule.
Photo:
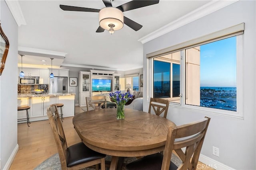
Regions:
<instances>
[{"instance_id":1,"label":"white crown molding on the ceiling edge above the kitchen pendant lights","mask_svg":"<svg viewBox=\"0 0 256 170\"><path fill-rule=\"evenodd\" d=\"M58 51L49 51L43 49L33 49L28 47L18 47L18 54L26 54L26 55L36 55L44 57L44 55L51 55L51 56L59 56L56 58L64 59L67 53L62 53Z\"/></svg>"}]
</instances>

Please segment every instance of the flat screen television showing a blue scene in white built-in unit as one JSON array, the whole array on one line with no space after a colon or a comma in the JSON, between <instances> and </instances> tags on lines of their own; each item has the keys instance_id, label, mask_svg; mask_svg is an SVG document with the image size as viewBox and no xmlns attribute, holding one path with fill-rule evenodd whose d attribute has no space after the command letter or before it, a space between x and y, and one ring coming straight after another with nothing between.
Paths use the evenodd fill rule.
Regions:
<instances>
[{"instance_id":1,"label":"flat screen television showing a blue scene in white built-in unit","mask_svg":"<svg viewBox=\"0 0 256 170\"><path fill-rule=\"evenodd\" d=\"M92 79L92 92L111 91L111 79Z\"/></svg>"}]
</instances>

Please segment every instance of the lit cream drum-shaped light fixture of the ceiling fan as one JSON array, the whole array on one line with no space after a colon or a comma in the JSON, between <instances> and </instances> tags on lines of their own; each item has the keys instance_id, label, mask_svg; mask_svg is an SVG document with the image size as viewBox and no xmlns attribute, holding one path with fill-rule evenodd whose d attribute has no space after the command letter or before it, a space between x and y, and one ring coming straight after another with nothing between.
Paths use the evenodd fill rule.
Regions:
<instances>
[{"instance_id":1,"label":"lit cream drum-shaped light fixture of the ceiling fan","mask_svg":"<svg viewBox=\"0 0 256 170\"><path fill-rule=\"evenodd\" d=\"M114 7L106 7L99 12L100 27L109 30L112 28L114 31L122 29L124 26L124 14L121 10ZM113 27L110 27L114 25ZM114 33L114 32L113 32Z\"/></svg>"}]
</instances>

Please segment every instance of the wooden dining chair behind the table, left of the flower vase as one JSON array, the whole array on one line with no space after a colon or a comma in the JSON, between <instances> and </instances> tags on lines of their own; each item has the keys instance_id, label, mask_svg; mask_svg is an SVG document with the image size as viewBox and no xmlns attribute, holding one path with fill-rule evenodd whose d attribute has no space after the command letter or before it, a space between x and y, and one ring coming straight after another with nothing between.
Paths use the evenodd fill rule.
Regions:
<instances>
[{"instance_id":1,"label":"wooden dining chair behind the table, left of the flower vase","mask_svg":"<svg viewBox=\"0 0 256 170\"><path fill-rule=\"evenodd\" d=\"M106 96L86 97L87 111L89 110L89 106L91 106L94 110L100 109L102 108L102 106L104 106L104 108L107 108Z\"/></svg>"}]
</instances>

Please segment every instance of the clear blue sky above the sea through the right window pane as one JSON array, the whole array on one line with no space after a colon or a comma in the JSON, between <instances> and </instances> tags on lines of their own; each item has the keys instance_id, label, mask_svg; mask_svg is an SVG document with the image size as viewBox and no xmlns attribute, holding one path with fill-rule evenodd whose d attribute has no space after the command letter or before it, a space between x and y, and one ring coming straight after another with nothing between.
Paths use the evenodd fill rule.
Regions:
<instances>
[{"instance_id":1,"label":"clear blue sky above the sea through the right window pane","mask_svg":"<svg viewBox=\"0 0 256 170\"><path fill-rule=\"evenodd\" d=\"M200 46L200 86L236 87L236 37Z\"/></svg>"}]
</instances>

